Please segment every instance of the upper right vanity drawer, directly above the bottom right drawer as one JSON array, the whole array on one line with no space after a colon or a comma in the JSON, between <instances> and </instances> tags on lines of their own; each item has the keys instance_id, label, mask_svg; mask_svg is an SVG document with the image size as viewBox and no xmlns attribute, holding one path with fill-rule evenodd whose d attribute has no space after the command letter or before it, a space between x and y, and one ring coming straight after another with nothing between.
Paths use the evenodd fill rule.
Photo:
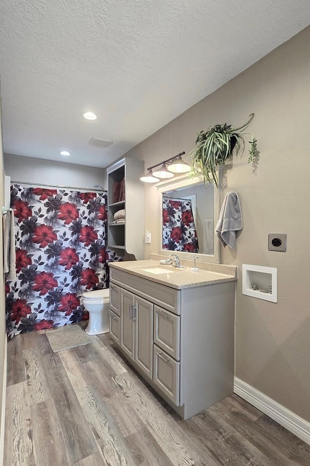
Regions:
<instances>
[{"instance_id":1,"label":"upper right vanity drawer, directly above the bottom right drawer","mask_svg":"<svg viewBox=\"0 0 310 466\"><path fill-rule=\"evenodd\" d=\"M154 343L180 359L180 317L158 306L154 306Z\"/></svg>"}]
</instances>

